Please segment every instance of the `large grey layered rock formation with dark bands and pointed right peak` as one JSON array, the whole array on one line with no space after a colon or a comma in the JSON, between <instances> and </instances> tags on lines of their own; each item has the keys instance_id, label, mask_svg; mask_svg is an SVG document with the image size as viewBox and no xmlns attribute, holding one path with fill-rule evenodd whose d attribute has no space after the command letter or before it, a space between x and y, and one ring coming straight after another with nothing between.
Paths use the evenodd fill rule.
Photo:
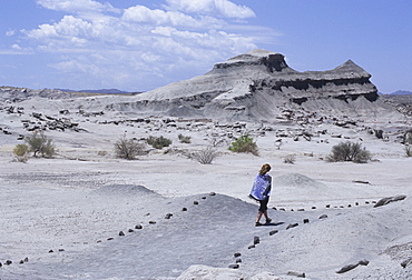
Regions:
<instances>
[{"instance_id":1,"label":"large grey layered rock formation with dark bands and pointed right peak","mask_svg":"<svg viewBox=\"0 0 412 280\"><path fill-rule=\"evenodd\" d=\"M281 53L253 50L216 63L212 71L175 82L108 108L158 111L171 117L274 120L285 110L375 110L377 90L371 74L351 60L328 71L298 72ZM383 102L382 102L383 106Z\"/></svg>"}]
</instances>

